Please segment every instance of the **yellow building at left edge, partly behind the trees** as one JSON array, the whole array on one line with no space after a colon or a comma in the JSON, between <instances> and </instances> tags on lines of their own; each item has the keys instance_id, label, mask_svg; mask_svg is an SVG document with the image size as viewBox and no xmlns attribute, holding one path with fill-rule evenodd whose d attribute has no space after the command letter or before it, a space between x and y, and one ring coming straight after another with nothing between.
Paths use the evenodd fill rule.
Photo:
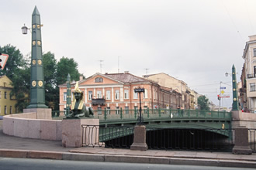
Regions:
<instances>
[{"instance_id":1,"label":"yellow building at left edge, partly behind the trees","mask_svg":"<svg viewBox=\"0 0 256 170\"><path fill-rule=\"evenodd\" d=\"M11 97L12 81L7 76L0 76L0 116L16 114L16 99Z\"/></svg>"}]
</instances>

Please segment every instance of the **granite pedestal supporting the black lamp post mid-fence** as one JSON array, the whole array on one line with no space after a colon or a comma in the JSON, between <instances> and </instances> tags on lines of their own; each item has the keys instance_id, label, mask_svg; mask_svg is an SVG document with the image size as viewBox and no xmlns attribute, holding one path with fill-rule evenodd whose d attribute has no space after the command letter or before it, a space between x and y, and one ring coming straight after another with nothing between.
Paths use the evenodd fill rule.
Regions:
<instances>
[{"instance_id":1,"label":"granite pedestal supporting the black lamp post mid-fence","mask_svg":"<svg viewBox=\"0 0 256 170\"><path fill-rule=\"evenodd\" d=\"M146 132L146 127L143 125L134 128L133 145L130 146L131 150L147 151Z\"/></svg>"}]
</instances>

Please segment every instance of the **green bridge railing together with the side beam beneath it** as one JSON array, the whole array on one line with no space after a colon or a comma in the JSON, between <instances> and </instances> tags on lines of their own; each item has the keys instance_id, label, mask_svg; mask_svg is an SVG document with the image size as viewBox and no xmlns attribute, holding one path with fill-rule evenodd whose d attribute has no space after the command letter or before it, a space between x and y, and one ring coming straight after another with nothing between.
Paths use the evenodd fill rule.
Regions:
<instances>
[{"instance_id":1,"label":"green bridge railing together with the side beam beneath it","mask_svg":"<svg viewBox=\"0 0 256 170\"><path fill-rule=\"evenodd\" d=\"M95 118L99 124L107 126L128 126L137 124L139 110L95 110ZM53 119L62 119L65 112L53 111ZM147 128L231 128L231 113L225 111L204 110L172 110L144 109L142 110L144 125Z\"/></svg>"}]
</instances>

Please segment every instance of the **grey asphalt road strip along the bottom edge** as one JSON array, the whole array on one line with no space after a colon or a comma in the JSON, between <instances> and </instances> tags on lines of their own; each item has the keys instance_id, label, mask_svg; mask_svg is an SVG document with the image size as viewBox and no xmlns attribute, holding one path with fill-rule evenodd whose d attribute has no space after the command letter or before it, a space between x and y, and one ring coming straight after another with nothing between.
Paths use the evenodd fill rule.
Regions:
<instances>
[{"instance_id":1,"label":"grey asphalt road strip along the bottom edge","mask_svg":"<svg viewBox=\"0 0 256 170\"><path fill-rule=\"evenodd\" d=\"M81 162L81 161L59 161L48 159L30 158L0 158L0 170L240 170L241 168L224 168L213 166L192 166L192 165L157 165L137 163L116 163L116 162ZM243 168L243 170L255 168Z\"/></svg>"}]
</instances>

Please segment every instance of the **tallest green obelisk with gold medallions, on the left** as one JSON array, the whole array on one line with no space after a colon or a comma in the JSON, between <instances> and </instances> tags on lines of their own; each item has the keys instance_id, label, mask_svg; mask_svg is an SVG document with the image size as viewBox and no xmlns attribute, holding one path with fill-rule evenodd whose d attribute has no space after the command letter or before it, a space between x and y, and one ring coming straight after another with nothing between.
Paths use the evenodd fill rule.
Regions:
<instances>
[{"instance_id":1,"label":"tallest green obelisk with gold medallions, on the left","mask_svg":"<svg viewBox=\"0 0 256 170\"><path fill-rule=\"evenodd\" d=\"M48 108L45 105L40 13L36 7L32 14L31 53L30 104L27 108Z\"/></svg>"}]
</instances>

